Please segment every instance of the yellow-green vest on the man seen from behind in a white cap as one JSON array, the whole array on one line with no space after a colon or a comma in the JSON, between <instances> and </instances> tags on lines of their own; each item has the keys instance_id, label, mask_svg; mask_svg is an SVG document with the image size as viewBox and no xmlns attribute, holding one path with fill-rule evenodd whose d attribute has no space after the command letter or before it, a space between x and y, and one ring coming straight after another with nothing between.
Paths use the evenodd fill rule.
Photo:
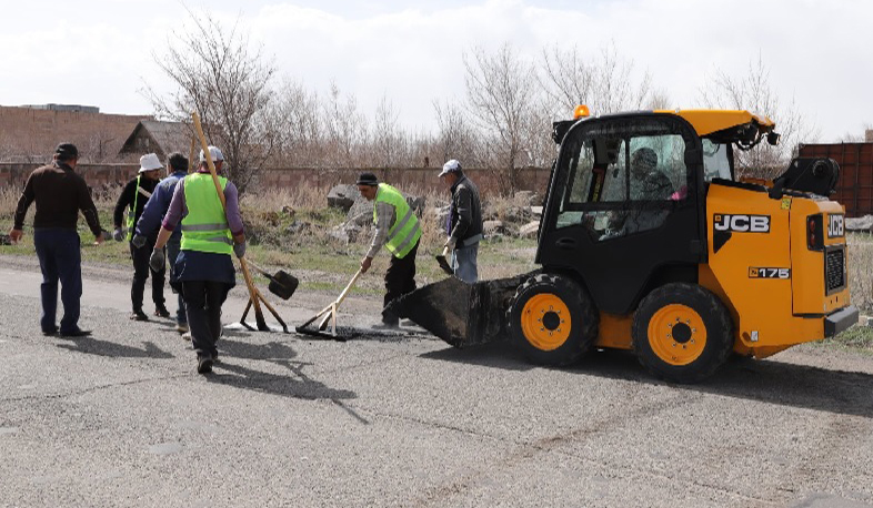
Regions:
<instances>
[{"instance_id":1,"label":"yellow-green vest on the man seen from behind in a white cap","mask_svg":"<svg viewBox=\"0 0 873 508\"><path fill-rule=\"evenodd\" d=\"M221 191L228 179L219 176ZM212 175L194 173L184 177L184 201L188 215L182 219L182 251L212 252L231 254L233 237L228 226L228 217L221 205Z\"/></svg>"}]
</instances>

